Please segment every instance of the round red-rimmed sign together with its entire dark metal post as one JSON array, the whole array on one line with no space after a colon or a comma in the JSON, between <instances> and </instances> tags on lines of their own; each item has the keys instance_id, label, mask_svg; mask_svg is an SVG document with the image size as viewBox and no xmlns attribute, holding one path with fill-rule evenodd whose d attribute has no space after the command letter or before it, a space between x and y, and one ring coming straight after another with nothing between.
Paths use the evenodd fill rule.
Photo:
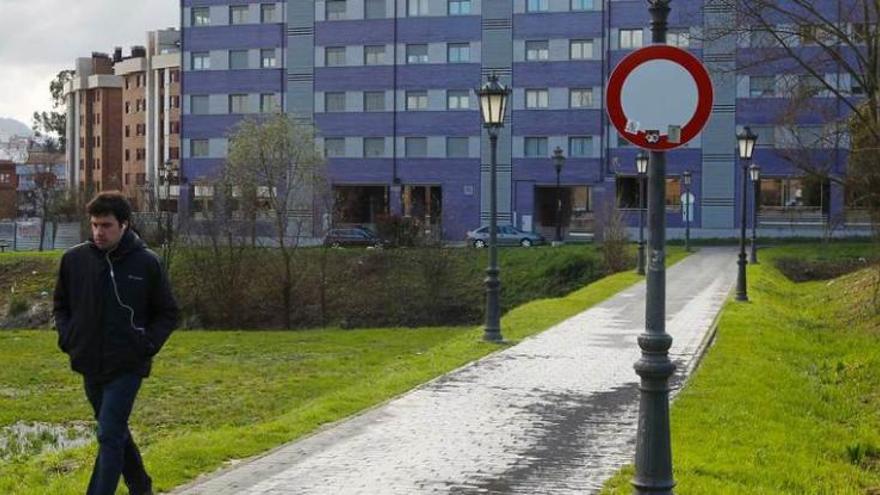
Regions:
<instances>
[{"instance_id":1,"label":"round red-rimmed sign together with its entire dark metal post","mask_svg":"<svg viewBox=\"0 0 880 495\"><path fill-rule=\"evenodd\" d=\"M672 494L669 430L669 359L666 333L666 151L700 133L712 112L712 82L703 64L666 45L670 0L648 0L653 45L625 57L611 73L606 103L624 139L650 151L648 165L648 270L645 332L639 335L639 427L636 494Z\"/></svg>"}]
</instances>

